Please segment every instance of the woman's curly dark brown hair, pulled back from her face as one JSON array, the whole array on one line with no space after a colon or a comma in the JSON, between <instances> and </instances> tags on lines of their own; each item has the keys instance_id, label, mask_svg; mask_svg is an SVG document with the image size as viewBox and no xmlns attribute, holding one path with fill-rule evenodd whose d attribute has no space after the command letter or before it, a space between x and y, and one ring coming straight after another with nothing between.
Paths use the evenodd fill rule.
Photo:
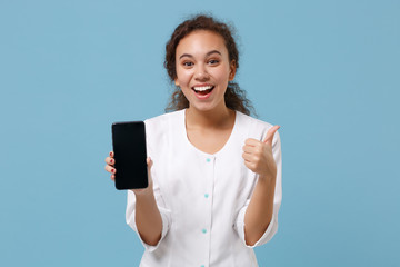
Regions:
<instances>
[{"instance_id":1,"label":"woman's curly dark brown hair, pulled back from her face","mask_svg":"<svg viewBox=\"0 0 400 267\"><path fill-rule=\"evenodd\" d=\"M226 43L228 49L229 60L232 62L234 60L236 68L239 68L239 51L234 39L232 37L232 27L217 21L211 16L197 14L191 19L183 21L179 24L173 31L171 39L166 44L166 61L164 67L167 69L168 76L171 81L174 81L177 78L176 69L176 52L178 43L189 33L197 30L209 30L220 34ZM249 99L246 97L246 91L240 89L239 85L232 81L229 81L227 91L224 95L224 101L228 108L241 111L246 115L254 113L254 108L252 107ZM189 101L179 89L176 87L166 111L181 110L189 107Z\"/></svg>"}]
</instances>

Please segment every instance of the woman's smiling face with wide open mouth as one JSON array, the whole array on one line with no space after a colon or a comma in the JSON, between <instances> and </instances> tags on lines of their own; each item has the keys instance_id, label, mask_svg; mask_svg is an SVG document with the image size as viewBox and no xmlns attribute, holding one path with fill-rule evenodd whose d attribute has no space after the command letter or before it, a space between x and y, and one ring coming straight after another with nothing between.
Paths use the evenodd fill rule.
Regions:
<instances>
[{"instance_id":1,"label":"woman's smiling face with wide open mouth","mask_svg":"<svg viewBox=\"0 0 400 267\"><path fill-rule=\"evenodd\" d=\"M180 40L176 53L177 78L189 108L210 111L226 108L224 92L233 80L234 61L229 61L223 38L206 30L193 31Z\"/></svg>"}]
</instances>

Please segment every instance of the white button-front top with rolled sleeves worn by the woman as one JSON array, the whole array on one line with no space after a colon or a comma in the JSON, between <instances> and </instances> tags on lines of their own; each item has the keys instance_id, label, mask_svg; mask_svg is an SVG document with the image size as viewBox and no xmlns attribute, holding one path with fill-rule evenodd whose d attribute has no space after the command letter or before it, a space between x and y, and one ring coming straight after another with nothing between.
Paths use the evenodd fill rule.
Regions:
<instances>
[{"instance_id":1,"label":"white button-front top with rolled sleeves worn by the woman","mask_svg":"<svg viewBox=\"0 0 400 267\"><path fill-rule=\"evenodd\" d=\"M244 214L258 175L244 166L242 147L247 138L263 140L272 126L237 111L227 144L209 155L188 140L184 113L179 110L144 121L162 235L157 246L141 240L146 250L140 266L258 266L252 247L269 241L278 229L282 199L279 134L272 140L278 168L272 220L254 246L247 246ZM134 207L134 194L128 190L127 224L138 233Z\"/></svg>"}]
</instances>

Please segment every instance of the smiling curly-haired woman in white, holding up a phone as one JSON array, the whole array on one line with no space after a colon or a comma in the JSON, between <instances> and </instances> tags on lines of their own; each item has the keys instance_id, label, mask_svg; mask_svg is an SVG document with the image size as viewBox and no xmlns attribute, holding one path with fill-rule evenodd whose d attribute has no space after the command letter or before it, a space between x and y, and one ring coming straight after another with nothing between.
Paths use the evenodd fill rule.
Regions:
<instances>
[{"instance_id":1,"label":"smiling curly-haired woman in white, holding up a phone","mask_svg":"<svg viewBox=\"0 0 400 267\"><path fill-rule=\"evenodd\" d=\"M248 116L224 23L187 20L166 50L176 111L146 120L149 187L128 191L127 222L146 248L140 266L257 266L252 247L278 227L279 126ZM112 152L106 162L114 179Z\"/></svg>"}]
</instances>

